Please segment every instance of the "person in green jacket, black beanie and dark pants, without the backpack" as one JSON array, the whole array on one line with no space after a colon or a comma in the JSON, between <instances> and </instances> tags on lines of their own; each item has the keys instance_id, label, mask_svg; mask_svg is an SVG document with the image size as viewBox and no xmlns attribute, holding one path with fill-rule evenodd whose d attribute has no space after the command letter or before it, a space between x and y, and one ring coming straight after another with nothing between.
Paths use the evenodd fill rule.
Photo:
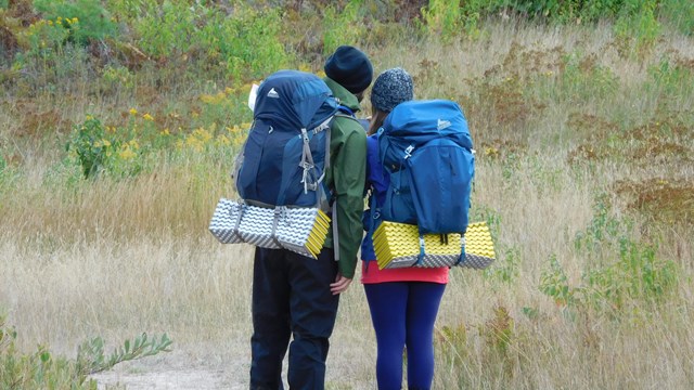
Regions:
<instances>
[{"instance_id":1,"label":"person in green jacket, black beanie and dark pants, without the backpack","mask_svg":"<svg viewBox=\"0 0 694 390\"><path fill-rule=\"evenodd\" d=\"M326 60L324 81L343 107L360 109L373 79L373 66L360 50L342 46ZM331 234L318 259L290 250L256 248L253 276L250 389L283 389L282 361L290 352L292 389L323 389L329 338L339 294L355 277L363 235L367 134L354 117L331 126L325 183L333 198ZM335 231L333 230L333 231ZM337 247L337 248L334 248ZM290 339L292 341L290 342Z\"/></svg>"}]
</instances>

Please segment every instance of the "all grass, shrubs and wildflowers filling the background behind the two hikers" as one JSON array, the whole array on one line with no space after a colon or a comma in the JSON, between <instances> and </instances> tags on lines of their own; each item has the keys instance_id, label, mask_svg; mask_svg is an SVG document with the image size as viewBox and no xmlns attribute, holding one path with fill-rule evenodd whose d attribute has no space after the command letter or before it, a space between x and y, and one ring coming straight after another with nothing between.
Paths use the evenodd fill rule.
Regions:
<instances>
[{"instance_id":1,"label":"all grass, shrubs and wildflowers filling the background behind the two hikers","mask_svg":"<svg viewBox=\"0 0 694 390\"><path fill-rule=\"evenodd\" d=\"M137 316L219 343L246 321L230 300L246 297L242 268L205 226L230 195L248 91L279 68L320 74L350 43L376 72L407 68L417 99L459 102L475 141L471 220L498 259L451 272L435 387L686 388L692 4L0 1L0 307L18 328L0 326L0 387L94 388L89 373L170 343L105 355L98 338L66 359L36 340L130 333ZM345 317L363 321L360 304Z\"/></svg>"}]
</instances>

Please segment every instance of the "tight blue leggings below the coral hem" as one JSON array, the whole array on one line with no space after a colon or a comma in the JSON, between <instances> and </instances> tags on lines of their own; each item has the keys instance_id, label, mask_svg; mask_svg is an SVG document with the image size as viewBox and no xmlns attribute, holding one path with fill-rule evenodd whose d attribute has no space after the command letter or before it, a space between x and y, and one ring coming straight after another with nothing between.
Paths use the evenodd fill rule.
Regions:
<instances>
[{"instance_id":1,"label":"tight blue leggings below the coral hem","mask_svg":"<svg viewBox=\"0 0 694 390\"><path fill-rule=\"evenodd\" d=\"M434 379L434 322L445 284L364 284L376 330L380 390L401 389L402 350L408 353L408 388L429 389Z\"/></svg>"}]
</instances>

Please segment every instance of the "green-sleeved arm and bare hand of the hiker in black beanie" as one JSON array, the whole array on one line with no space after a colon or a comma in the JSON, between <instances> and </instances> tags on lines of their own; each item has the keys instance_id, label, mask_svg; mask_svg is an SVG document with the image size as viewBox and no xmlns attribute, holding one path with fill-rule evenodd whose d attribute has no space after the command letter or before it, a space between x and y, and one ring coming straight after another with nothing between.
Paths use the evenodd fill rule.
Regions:
<instances>
[{"instance_id":1,"label":"green-sleeved arm and bare hand of the hiker in black beanie","mask_svg":"<svg viewBox=\"0 0 694 390\"><path fill-rule=\"evenodd\" d=\"M363 236L363 188L367 172L367 135L361 126L346 119L345 130L337 139L333 154L333 191L337 213L339 274L331 285L334 294L344 291L355 277L357 252ZM335 134L337 135L337 134ZM345 281L349 280L349 281Z\"/></svg>"}]
</instances>

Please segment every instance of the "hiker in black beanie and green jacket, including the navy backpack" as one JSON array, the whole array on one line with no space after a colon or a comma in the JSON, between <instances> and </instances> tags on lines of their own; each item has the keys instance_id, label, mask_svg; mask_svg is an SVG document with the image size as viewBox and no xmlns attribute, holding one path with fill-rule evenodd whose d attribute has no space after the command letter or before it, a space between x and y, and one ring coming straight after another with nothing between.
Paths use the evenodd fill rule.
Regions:
<instances>
[{"instance_id":1,"label":"hiker in black beanie and green jacket, including the navy backpack","mask_svg":"<svg viewBox=\"0 0 694 390\"><path fill-rule=\"evenodd\" d=\"M257 243L253 275L250 389L283 388L282 361L287 347L290 387L292 389L324 388L329 338L335 324L339 294L349 287L355 275L357 252L363 235L361 217L367 135L354 114L360 109L363 93L371 84L373 68L363 52L343 46L326 60L324 70L326 76L322 81L318 77L313 79L311 75L298 72L278 73L266 79L269 83L260 86L256 100L254 128L249 133L248 145L245 146L246 153L249 147L253 147L254 142L260 145L278 135L279 125L273 123L284 118L278 118L277 110L267 107L284 104L278 107L296 112L296 106L299 104L297 96L313 90L322 93L324 92L322 89L329 88L326 91L331 96L319 101L318 104L322 104L320 109L332 109L335 114L331 114L330 119L319 123L318 127L309 127L309 131L306 131L306 128L301 129L303 135L292 139L297 143L300 143L301 139L306 142L300 165L295 162L284 165L284 168L298 170L294 178L296 180L285 181L283 174L262 177L257 168L249 168L253 166L249 159L265 158L259 155L270 153L267 151L254 153L255 157L245 156L246 161L239 172L240 194L244 199L253 198L256 205L305 206L300 200L303 196L320 194L307 203L326 202L331 205L326 213L332 219L332 231L336 233L329 234L316 258L299 255L296 250L262 247L262 245L271 247L272 243ZM283 86L280 82L283 77L298 79L297 88L294 90L270 88L272 82ZM283 102L285 94L292 95L286 103ZM308 99L301 100L300 104L308 102L306 104L310 105L311 99L312 96L309 95ZM304 112L308 110L299 109L298 117ZM316 109L308 114L307 121L310 121L310 115L317 117L320 114L313 112ZM310 140L320 140L320 142ZM294 141L288 141L287 144ZM321 150L321 145L314 145L321 142L329 147L324 146L325 150ZM307 153L309 150L310 153ZM275 157L267 158L281 160L282 151ZM319 159L324 159L320 167ZM258 162L258 165L262 164ZM318 168L324 170L318 172ZM249 179L244 179L246 178L244 174ZM243 185L239 185L239 182L243 182ZM264 198L269 192L272 193L266 188L284 186L285 182L288 183L290 191L280 191L279 197L272 194L271 198ZM298 200L288 199L294 196L292 185L299 182L301 186L294 194ZM321 196L325 199L321 200ZM277 214L293 209L275 208L275 210L280 211L275 211L271 240L278 245L285 245L274 236L278 225ZM291 225L291 221L287 223Z\"/></svg>"}]
</instances>

